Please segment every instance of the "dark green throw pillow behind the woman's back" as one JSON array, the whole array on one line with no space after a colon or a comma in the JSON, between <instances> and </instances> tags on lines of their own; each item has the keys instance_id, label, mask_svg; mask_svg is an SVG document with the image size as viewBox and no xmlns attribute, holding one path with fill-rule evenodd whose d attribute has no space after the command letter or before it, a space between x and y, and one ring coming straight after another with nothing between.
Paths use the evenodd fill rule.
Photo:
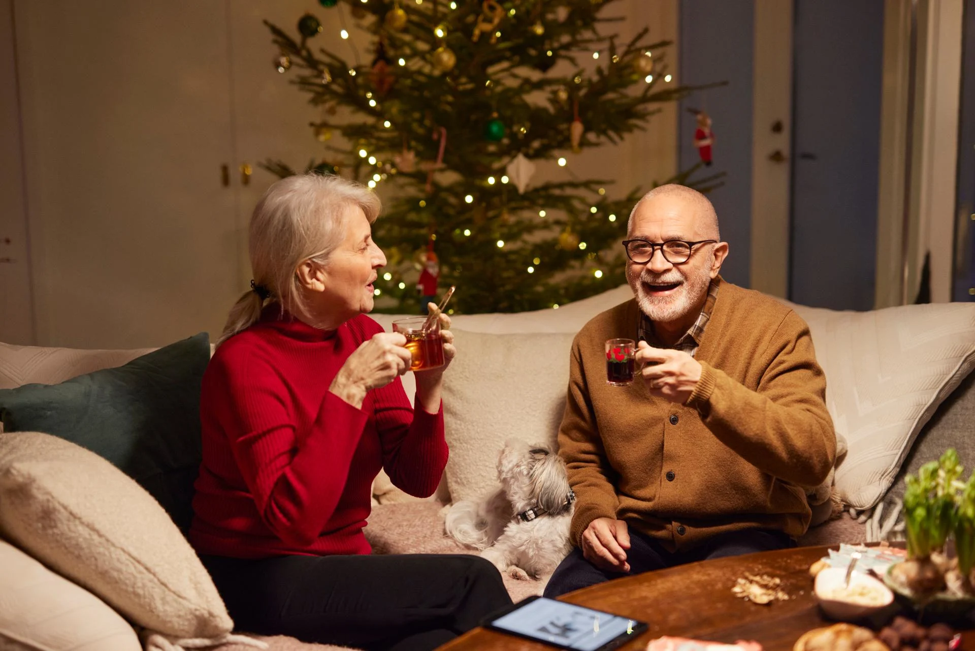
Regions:
<instances>
[{"instance_id":1,"label":"dark green throw pillow behind the woman's back","mask_svg":"<svg viewBox=\"0 0 975 651\"><path fill-rule=\"evenodd\" d=\"M0 390L4 431L43 431L88 448L135 479L185 532L200 469L200 333L59 385Z\"/></svg>"}]
</instances>

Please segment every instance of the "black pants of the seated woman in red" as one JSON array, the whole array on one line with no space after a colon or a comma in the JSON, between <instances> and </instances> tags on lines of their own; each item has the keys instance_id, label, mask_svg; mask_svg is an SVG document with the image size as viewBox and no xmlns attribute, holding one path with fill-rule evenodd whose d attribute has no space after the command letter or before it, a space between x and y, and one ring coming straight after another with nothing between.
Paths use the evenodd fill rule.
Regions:
<instances>
[{"instance_id":1,"label":"black pants of the seated woman in red","mask_svg":"<svg viewBox=\"0 0 975 651\"><path fill-rule=\"evenodd\" d=\"M468 554L201 556L234 628L367 649L433 649L511 604Z\"/></svg>"}]
</instances>

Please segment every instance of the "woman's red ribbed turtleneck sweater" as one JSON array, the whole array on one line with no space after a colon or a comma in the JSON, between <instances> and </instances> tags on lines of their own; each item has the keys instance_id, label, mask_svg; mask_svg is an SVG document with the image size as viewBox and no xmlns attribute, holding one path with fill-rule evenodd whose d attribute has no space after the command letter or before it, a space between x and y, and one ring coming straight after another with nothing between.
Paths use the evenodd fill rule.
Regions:
<instances>
[{"instance_id":1,"label":"woman's red ribbed turtleneck sweater","mask_svg":"<svg viewBox=\"0 0 975 651\"><path fill-rule=\"evenodd\" d=\"M261 558L370 553L372 479L385 468L432 495L447 464L443 408L409 406L400 379L356 409L329 390L378 323L325 332L273 308L217 348L203 377L203 463L189 539L199 553Z\"/></svg>"}]
</instances>

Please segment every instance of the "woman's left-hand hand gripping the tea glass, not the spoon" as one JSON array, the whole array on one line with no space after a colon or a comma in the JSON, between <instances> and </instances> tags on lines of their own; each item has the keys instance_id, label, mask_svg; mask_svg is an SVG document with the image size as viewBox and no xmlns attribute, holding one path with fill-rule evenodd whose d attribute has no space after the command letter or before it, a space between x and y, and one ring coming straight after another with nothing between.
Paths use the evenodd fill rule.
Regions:
<instances>
[{"instance_id":1,"label":"woman's left-hand hand gripping the tea glass, not the spoon","mask_svg":"<svg viewBox=\"0 0 975 651\"><path fill-rule=\"evenodd\" d=\"M372 335L345 360L329 390L360 409L370 389L385 387L409 371L410 355L406 345L407 338L398 332Z\"/></svg>"}]
</instances>

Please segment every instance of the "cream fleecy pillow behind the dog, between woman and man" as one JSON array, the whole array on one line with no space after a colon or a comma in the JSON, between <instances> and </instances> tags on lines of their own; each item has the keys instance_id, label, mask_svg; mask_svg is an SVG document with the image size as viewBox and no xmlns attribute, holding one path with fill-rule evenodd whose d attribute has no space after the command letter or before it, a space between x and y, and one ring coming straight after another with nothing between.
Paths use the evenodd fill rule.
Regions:
<instances>
[{"instance_id":1,"label":"cream fleecy pillow behind the dog, between woman and man","mask_svg":"<svg viewBox=\"0 0 975 651\"><path fill-rule=\"evenodd\" d=\"M453 333L457 357L444 374L444 419L447 482L457 502L497 488L506 438L556 445L575 335Z\"/></svg>"}]
</instances>

